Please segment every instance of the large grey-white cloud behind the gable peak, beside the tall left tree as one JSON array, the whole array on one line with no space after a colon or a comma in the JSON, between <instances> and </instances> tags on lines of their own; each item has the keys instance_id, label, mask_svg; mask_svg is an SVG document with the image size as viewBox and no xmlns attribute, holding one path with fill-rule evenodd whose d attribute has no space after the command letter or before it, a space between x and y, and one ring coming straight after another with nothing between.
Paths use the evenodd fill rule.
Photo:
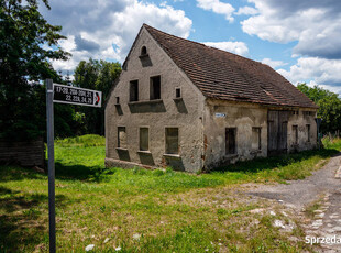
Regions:
<instances>
[{"instance_id":1,"label":"large grey-white cloud behind the gable peak, beside the tall left tree","mask_svg":"<svg viewBox=\"0 0 341 253\"><path fill-rule=\"evenodd\" d=\"M67 62L53 62L58 70L74 70L89 57L123 62L143 23L185 38L193 23L183 10L139 0L58 0L51 7L41 11L63 26L67 40L61 46L73 54Z\"/></svg>"}]
</instances>

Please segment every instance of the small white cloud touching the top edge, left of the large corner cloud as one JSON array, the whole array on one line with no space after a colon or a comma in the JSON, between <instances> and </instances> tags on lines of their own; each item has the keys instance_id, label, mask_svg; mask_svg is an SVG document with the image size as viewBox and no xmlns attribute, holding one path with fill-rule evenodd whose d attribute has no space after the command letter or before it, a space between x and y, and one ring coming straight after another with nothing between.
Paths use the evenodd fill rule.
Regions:
<instances>
[{"instance_id":1,"label":"small white cloud touching the top edge, left of the large corner cloud","mask_svg":"<svg viewBox=\"0 0 341 253\"><path fill-rule=\"evenodd\" d=\"M212 11L217 14L223 14L229 22L233 22L234 8L230 3L221 2L219 0L197 0L198 7Z\"/></svg>"}]
</instances>

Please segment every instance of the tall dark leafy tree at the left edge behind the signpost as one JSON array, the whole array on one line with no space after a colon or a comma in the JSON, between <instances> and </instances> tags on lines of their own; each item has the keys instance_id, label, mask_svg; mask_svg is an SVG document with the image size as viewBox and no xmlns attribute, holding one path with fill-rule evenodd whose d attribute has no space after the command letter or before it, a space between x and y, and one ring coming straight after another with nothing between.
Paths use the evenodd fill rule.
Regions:
<instances>
[{"instance_id":1,"label":"tall dark leafy tree at the left edge behind the signpost","mask_svg":"<svg viewBox=\"0 0 341 253\"><path fill-rule=\"evenodd\" d=\"M50 9L47 0L43 3ZM46 128L37 81L61 81L51 59L67 59L69 54L58 46L66 37L41 15L36 0L0 4L0 139L35 139Z\"/></svg>"}]
</instances>

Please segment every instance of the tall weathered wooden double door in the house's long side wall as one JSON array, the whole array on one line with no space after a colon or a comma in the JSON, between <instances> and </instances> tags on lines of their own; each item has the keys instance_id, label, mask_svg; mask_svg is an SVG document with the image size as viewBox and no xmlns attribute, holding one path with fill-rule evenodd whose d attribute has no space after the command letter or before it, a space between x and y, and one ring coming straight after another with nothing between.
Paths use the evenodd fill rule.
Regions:
<instances>
[{"instance_id":1,"label":"tall weathered wooden double door in the house's long side wall","mask_svg":"<svg viewBox=\"0 0 341 253\"><path fill-rule=\"evenodd\" d=\"M287 152L288 111L270 110L267 113L268 155Z\"/></svg>"}]
</instances>

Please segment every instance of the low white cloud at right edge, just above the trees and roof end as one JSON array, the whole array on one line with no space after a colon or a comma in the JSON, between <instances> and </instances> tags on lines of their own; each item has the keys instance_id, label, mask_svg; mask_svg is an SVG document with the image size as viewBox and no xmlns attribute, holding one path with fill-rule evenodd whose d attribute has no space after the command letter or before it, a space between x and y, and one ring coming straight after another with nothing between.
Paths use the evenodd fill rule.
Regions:
<instances>
[{"instance_id":1,"label":"low white cloud at right edge, just above the trees and roof end","mask_svg":"<svg viewBox=\"0 0 341 253\"><path fill-rule=\"evenodd\" d=\"M277 72L293 84L314 81L311 84L332 87L332 90L341 89L341 59L300 57L289 70L278 69Z\"/></svg>"}]
</instances>

